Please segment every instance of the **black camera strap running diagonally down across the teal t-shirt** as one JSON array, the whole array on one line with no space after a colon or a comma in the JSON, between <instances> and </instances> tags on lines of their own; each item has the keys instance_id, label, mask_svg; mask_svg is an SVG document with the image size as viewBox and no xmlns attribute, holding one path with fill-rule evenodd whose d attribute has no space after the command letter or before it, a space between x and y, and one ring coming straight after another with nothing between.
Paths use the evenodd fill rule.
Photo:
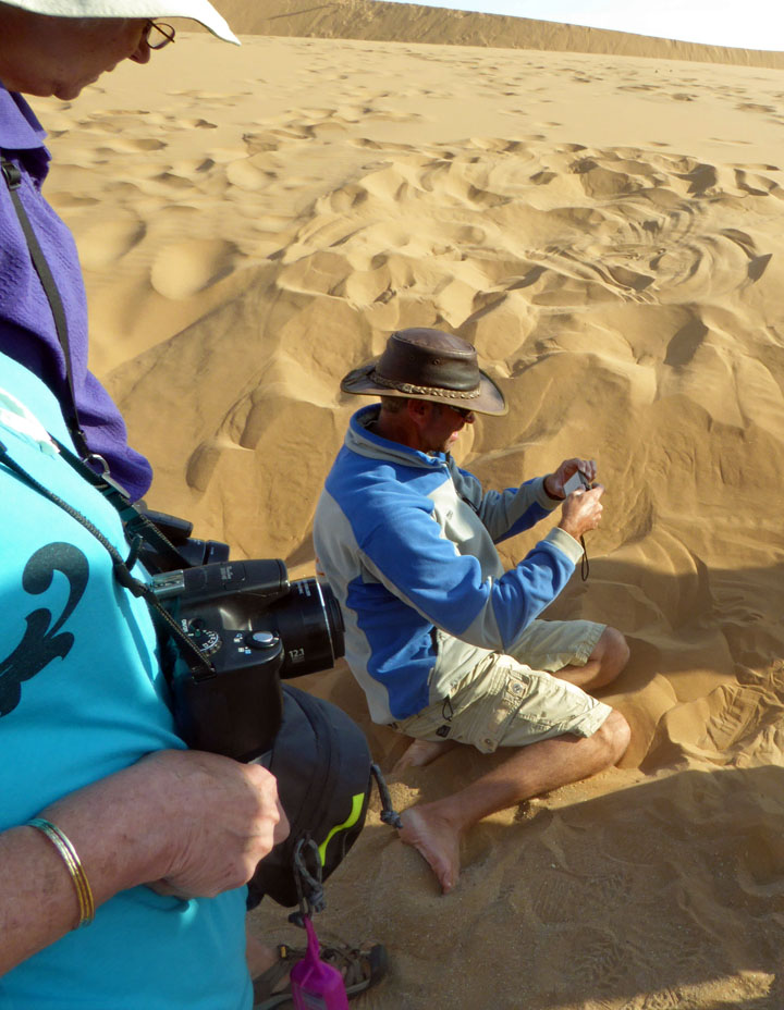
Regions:
<instances>
[{"instance_id":1,"label":"black camera strap running diagonally down across the teal t-shirt","mask_svg":"<svg viewBox=\"0 0 784 1010\"><path fill-rule=\"evenodd\" d=\"M54 442L60 452L63 454L65 461L69 463L77 473L79 473L94 486L101 491L100 484L102 479L97 473L94 473L86 464L82 463L81 459L74 456L73 453L69 452L69 449L61 445L56 439L52 439L52 442ZM32 488L34 491L38 492L38 494L42 495L53 505L57 505L58 508L61 508L69 516L71 516L72 519L75 519L76 522L83 526L88 533L91 533L93 537L95 537L95 539L101 544L101 546L106 549L109 556L111 557L112 571L117 581L124 589L127 589L128 592L132 592L134 596L140 596L144 599L150 609L150 614L156 624L156 627L169 635L183 661L187 664L191 673L194 676L194 679L205 680L208 677L215 676L215 668L212 664L209 663L198 646L194 644L186 632L180 627L176 619L172 617L172 615L166 609L150 587L132 575L131 569L136 564L144 535L145 533L149 532L146 529L146 525L152 527L152 524L145 519L144 516L139 516L139 519L143 519L144 522L142 522L138 528L144 529L145 533L134 532L132 530L132 524L123 519L123 508L121 505L124 502L125 506L131 508L134 513L136 509L134 509L133 505L125 497L125 495L119 491L117 485L107 485L108 491L101 491L101 493L103 493L103 496L120 514L120 520L123 525L123 532L125 533L125 538L128 540L131 546L131 552L125 559L119 553L117 547L114 547L114 545L110 543L109 540L107 540L103 533L101 533L101 531L93 522L90 522L86 516L83 516L78 509L69 505L68 502L63 501L63 498L54 494L53 491L50 491L47 486L41 484L40 481L37 481L35 477L33 477L24 469L24 467L16 463L16 460L9 454L8 448L2 442L0 442L0 463L4 464L9 470L15 473L20 480L24 481L28 488ZM136 515L138 516L138 513L136 513ZM128 533L131 533L130 537ZM156 533L163 538L163 534L159 531L156 531ZM169 546L171 547L171 544ZM171 549L172 551L175 550L174 547ZM170 672L163 667L163 673L167 677L167 680L171 683Z\"/></svg>"}]
</instances>

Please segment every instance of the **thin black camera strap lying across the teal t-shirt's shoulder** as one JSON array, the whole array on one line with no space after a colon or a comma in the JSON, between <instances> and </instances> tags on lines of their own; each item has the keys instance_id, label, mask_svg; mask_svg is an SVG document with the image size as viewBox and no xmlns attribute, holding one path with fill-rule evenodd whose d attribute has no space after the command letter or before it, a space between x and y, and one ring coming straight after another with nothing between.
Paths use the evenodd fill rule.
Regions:
<instances>
[{"instance_id":1,"label":"thin black camera strap lying across the teal t-shirt's shoulder","mask_svg":"<svg viewBox=\"0 0 784 1010\"><path fill-rule=\"evenodd\" d=\"M68 451L65 452L68 453ZM72 456L72 459L75 459L73 454L70 455ZM65 459L73 466L73 463L68 459L68 455L65 456ZM89 470L89 467L87 467L81 460L77 461L78 472L83 473L85 477L87 477L87 473L90 473L91 478L97 478L97 475L93 473L93 471ZM37 491L38 494L42 495L45 498L47 498L47 501L51 502L53 505L57 505L58 508L61 508L63 512L65 512L69 516L71 516L72 519L75 519L76 522L83 526L88 533L91 533L93 537L95 537L95 539L101 544L102 547L106 549L106 551L109 553L109 556L111 557L114 578L124 589L127 589L128 592L133 593L134 596L142 596L144 599L145 603L151 612L151 617L156 624L156 627L169 633L171 640L177 649L177 652L187 664L191 673L194 675L194 678L196 680L204 680L208 677L212 677L215 675L215 668L212 667L211 663L209 663L209 661L201 654L201 651L188 638L186 632L183 631L176 619L172 617L172 615L166 609L150 587L145 582L142 582L139 579L134 578L134 576L131 574L131 568L135 565L136 557L138 555L138 547L142 541L140 534L134 535L131 543L131 553L127 559L123 559L117 547L114 547L114 545L107 540L103 533L101 533L101 531L96 526L94 526L94 524L90 522L86 516L83 516L78 509L69 505L68 502L65 502L59 495L54 494L53 491L50 491L47 486L41 484L40 481L37 481L35 477L33 477L24 469L24 467L20 466L20 464L17 464L16 460L9 454L5 445L2 442L0 442L0 463L4 464L13 473L20 478L20 480L24 481L28 488ZM88 479L90 482L93 482L90 478ZM115 503L112 502L111 498L109 498L109 501L117 508ZM123 531L125 530L126 524L123 522ZM158 619L156 620L156 618ZM167 680L171 685L171 674L163 666L161 668L163 669L163 674Z\"/></svg>"}]
</instances>

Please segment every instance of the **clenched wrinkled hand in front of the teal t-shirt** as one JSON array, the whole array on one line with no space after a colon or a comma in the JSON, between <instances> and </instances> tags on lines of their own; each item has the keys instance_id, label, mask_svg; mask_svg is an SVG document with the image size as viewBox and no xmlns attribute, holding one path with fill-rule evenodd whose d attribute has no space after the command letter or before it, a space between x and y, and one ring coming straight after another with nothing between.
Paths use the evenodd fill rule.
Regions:
<instances>
[{"instance_id":1,"label":"clenched wrinkled hand in front of the teal t-shirt","mask_svg":"<svg viewBox=\"0 0 784 1010\"><path fill-rule=\"evenodd\" d=\"M203 751L158 751L137 768L166 790L168 865L159 894L211 898L241 887L289 834L274 776Z\"/></svg>"}]
</instances>

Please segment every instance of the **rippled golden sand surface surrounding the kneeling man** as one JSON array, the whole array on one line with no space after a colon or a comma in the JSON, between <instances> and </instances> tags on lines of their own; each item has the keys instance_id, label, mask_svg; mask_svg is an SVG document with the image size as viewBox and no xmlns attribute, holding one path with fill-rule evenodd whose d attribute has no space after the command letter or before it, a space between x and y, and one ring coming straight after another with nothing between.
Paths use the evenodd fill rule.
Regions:
<instances>
[{"instance_id":1,"label":"rippled golden sand surface surrounding the kneeling man","mask_svg":"<svg viewBox=\"0 0 784 1010\"><path fill-rule=\"evenodd\" d=\"M318 922L389 947L360 1006L781 1010L784 73L194 34L36 109L152 506L309 574L339 379L408 324L474 341L511 402L460 445L488 484L598 459L590 578L550 616L628 636L632 748L485 822L446 898L371 814ZM389 768L347 670L308 685Z\"/></svg>"}]
</instances>

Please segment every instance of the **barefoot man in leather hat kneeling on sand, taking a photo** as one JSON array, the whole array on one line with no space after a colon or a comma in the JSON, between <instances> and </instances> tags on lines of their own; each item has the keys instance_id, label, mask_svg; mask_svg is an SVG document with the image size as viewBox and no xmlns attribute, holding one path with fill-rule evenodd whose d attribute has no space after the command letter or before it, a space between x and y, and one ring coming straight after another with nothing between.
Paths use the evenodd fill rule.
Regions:
<instances>
[{"instance_id":1,"label":"barefoot man in leather hat kneeling on sand, taking a photo","mask_svg":"<svg viewBox=\"0 0 784 1010\"><path fill-rule=\"evenodd\" d=\"M628 646L613 628L538 615L562 591L601 519L600 485L564 496L578 470L483 491L451 455L477 414L506 412L474 347L438 330L393 333L380 358L351 371L358 410L327 478L314 525L319 570L341 602L346 660L370 716L413 737L397 769L467 743L509 756L458 792L402 815L401 839L444 892L460 842L494 811L617 762L624 717L588 691L614 680ZM505 571L495 544L561 508L554 529Z\"/></svg>"}]
</instances>

